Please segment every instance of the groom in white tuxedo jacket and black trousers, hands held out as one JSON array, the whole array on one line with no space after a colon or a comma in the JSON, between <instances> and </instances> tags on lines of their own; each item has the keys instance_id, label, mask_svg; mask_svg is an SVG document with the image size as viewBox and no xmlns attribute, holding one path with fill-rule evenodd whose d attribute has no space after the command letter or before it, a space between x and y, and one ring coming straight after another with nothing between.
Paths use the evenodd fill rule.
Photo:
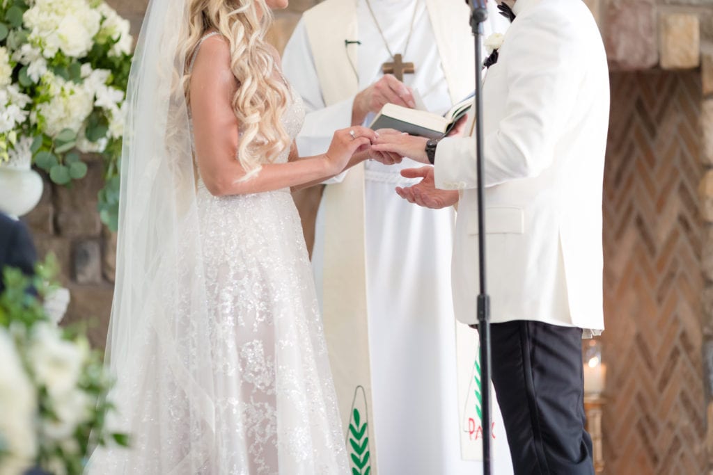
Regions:
<instances>
[{"instance_id":1,"label":"groom in white tuxedo jacket and black trousers, hands held out","mask_svg":"<svg viewBox=\"0 0 713 475\"><path fill-rule=\"evenodd\" d=\"M515 474L593 474L580 339L604 328L602 175L607 61L582 1L517 0L483 85L486 249L493 384ZM382 134L375 150L434 167L397 188L438 208L456 202L453 299L476 323L478 221L472 138Z\"/></svg>"}]
</instances>

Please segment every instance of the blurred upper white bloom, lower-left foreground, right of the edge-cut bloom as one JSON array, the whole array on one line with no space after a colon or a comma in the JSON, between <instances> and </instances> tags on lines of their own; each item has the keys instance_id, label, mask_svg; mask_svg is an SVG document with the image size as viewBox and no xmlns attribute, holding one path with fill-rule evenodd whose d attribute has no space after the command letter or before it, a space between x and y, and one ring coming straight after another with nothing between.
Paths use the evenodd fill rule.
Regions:
<instances>
[{"instance_id":1,"label":"blurred upper white bloom, lower-left foreground, right of the edge-cut bloom","mask_svg":"<svg viewBox=\"0 0 713 475\"><path fill-rule=\"evenodd\" d=\"M28 359L36 380L51 397L65 397L76 388L83 351L73 342L63 340L56 326L35 325Z\"/></svg>"}]
</instances>

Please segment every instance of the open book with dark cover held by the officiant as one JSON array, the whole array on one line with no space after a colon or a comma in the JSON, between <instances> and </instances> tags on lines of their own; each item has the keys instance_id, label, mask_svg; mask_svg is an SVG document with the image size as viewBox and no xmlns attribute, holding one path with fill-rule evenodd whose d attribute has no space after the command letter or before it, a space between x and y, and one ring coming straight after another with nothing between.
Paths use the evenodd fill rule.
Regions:
<instances>
[{"instance_id":1,"label":"open book with dark cover held by the officiant","mask_svg":"<svg viewBox=\"0 0 713 475\"><path fill-rule=\"evenodd\" d=\"M396 104L384 104L379 114L371 121L369 128L372 130L395 129L408 132L411 135L437 139L448 135L456 122L468 113L468 110L473 106L474 95L474 93L468 95L443 115L430 113L426 110L409 109Z\"/></svg>"}]
</instances>

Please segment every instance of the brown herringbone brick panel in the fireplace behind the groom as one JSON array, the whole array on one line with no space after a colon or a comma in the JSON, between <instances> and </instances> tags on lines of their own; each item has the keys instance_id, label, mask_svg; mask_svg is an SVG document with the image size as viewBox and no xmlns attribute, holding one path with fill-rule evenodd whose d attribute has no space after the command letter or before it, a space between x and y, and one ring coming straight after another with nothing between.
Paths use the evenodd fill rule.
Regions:
<instances>
[{"instance_id":1,"label":"brown herringbone brick panel in the fireplace behind the groom","mask_svg":"<svg viewBox=\"0 0 713 475\"><path fill-rule=\"evenodd\" d=\"M610 475L703 474L697 73L614 73L604 185Z\"/></svg>"}]
</instances>

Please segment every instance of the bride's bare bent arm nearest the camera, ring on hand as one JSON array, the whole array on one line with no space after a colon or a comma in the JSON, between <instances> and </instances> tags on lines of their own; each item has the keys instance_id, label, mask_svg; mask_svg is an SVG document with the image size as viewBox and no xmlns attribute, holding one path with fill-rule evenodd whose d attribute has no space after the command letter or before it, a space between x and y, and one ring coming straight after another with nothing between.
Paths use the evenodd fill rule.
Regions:
<instances>
[{"instance_id":1,"label":"bride's bare bent arm nearest the camera, ring on hand","mask_svg":"<svg viewBox=\"0 0 713 475\"><path fill-rule=\"evenodd\" d=\"M220 36L202 43L193 67L190 103L198 169L206 188L215 195L267 192L320 182L338 174L354 152L375 138L365 127L334 134L326 154L281 164L266 164L255 177L241 181L245 170L237 160L240 123L232 110L237 80L230 71L230 48ZM364 160L361 158L361 160Z\"/></svg>"}]
</instances>

